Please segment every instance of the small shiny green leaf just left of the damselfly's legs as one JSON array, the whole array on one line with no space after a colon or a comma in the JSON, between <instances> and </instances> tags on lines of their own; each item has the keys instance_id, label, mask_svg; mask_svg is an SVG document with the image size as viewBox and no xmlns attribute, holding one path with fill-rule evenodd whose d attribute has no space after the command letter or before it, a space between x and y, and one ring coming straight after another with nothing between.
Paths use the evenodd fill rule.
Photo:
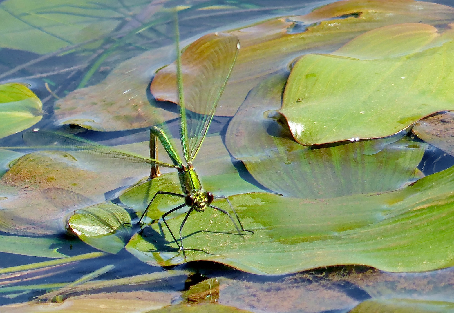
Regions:
<instances>
[{"instance_id":1,"label":"small shiny green leaf just left of the damselfly's legs","mask_svg":"<svg viewBox=\"0 0 454 313\"><path fill-rule=\"evenodd\" d=\"M129 227L128 227L129 226ZM69 230L86 244L112 254L126 245L131 217L115 204L99 204L74 211L68 222Z\"/></svg>"}]
</instances>

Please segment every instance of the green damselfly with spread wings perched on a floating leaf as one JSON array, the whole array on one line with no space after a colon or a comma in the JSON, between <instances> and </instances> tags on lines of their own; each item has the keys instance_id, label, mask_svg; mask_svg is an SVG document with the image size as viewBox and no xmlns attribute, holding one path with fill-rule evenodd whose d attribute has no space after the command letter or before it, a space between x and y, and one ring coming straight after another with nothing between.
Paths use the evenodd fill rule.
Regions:
<instances>
[{"instance_id":1,"label":"green damselfly with spread wings perched on a floating leaf","mask_svg":"<svg viewBox=\"0 0 454 313\"><path fill-rule=\"evenodd\" d=\"M123 159L136 163L147 163L151 165L150 179L160 175L159 166L177 169L182 194L158 191L148 203L138 224L143 225L143 220L147 216L147 211L156 197L168 195L183 198L184 203L164 213L162 215L162 220L172 235L173 240L178 245L179 250L182 251L184 258L186 258L183 247L182 230L186 220L193 211L197 212L211 208L228 215L232 220L233 225L235 225L238 235L253 234L253 231L245 230L243 228L241 220L227 197L213 196L210 191L205 191L203 189L202 183L192 165L192 161L196 157L203 139L207 134L217 103L219 102L237 59L238 50L240 48L238 38L234 35L222 33L206 35L187 48L187 50L191 49L191 53L195 55L194 58L197 60L197 64L190 64L187 62L183 62L182 64L178 38L178 22L176 21L175 24L177 50L176 88L178 90L178 104L180 105L180 139L185 164L183 164L183 161L178 156L178 153L169 140L166 132L164 132L162 127L157 126L153 126L150 129L150 159L134 156L127 152L116 151L110 147L84 141L74 136L62 135L54 132L25 132L23 138L28 145L36 146L39 149L45 147L46 149L87 151L108 158ZM183 82L183 71L186 74L193 74L192 76L190 74L191 79L188 79L188 82ZM173 164L157 160L158 140L162 143ZM212 205L214 199L225 199L235 218L226 210ZM186 212L183 222L180 225L179 237L177 238L170 229L166 217L178 210L183 210L186 206L189 207L189 210Z\"/></svg>"}]
</instances>

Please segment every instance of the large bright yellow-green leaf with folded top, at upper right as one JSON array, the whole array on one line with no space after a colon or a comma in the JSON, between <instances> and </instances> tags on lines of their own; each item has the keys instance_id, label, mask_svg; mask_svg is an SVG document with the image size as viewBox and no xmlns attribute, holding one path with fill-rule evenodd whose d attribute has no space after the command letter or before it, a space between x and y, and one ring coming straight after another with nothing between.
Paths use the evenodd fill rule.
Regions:
<instances>
[{"instance_id":1,"label":"large bright yellow-green leaf with folded top, at upper right","mask_svg":"<svg viewBox=\"0 0 454 313\"><path fill-rule=\"evenodd\" d=\"M454 109L453 34L397 24L331 54L307 54L290 73L277 118L297 142L314 145L390 136Z\"/></svg>"}]
</instances>

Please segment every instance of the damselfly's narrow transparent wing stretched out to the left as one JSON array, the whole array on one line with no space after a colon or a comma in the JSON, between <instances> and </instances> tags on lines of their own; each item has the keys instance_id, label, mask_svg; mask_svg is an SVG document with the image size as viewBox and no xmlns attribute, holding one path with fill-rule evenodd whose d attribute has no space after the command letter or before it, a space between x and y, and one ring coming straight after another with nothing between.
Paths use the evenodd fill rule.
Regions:
<instances>
[{"instance_id":1,"label":"damselfly's narrow transparent wing stretched out to the left","mask_svg":"<svg viewBox=\"0 0 454 313\"><path fill-rule=\"evenodd\" d=\"M172 164L167 164L154 159L147 159L142 156L136 156L127 152L112 149L111 147L102 146L94 142L79 139L74 136L59 134L46 131L30 131L22 135L24 142L29 147L36 147L46 150L63 150L63 151L86 151L100 156L113 159L121 159L135 163L154 164L158 166L176 168Z\"/></svg>"}]
</instances>

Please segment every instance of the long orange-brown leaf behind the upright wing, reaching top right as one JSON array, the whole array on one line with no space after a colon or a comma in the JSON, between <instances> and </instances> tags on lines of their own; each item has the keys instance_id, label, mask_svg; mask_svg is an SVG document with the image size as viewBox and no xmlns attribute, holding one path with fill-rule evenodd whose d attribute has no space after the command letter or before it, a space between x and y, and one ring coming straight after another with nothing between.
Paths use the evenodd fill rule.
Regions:
<instances>
[{"instance_id":1,"label":"long orange-brown leaf behind the upright wing, reaching top right","mask_svg":"<svg viewBox=\"0 0 454 313\"><path fill-rule=\"evenodd\" d=\"M427 2L355 0L322 6L304 16L283 17L228 31L239 38L241 49L216 114L232 116L249 90L267 74L282 68L288 70L301 54L332 51L347 40L384 25L419 22L439 25L453 18L453 8ZM296 24L292 20L302 21L304 26L316 25L294 33L291 30ZM163 68L153 78L150 87L155 98L177 103L174 68L174 65ZM184 75L183 78L190 79Z\"/></svg>"}]
</instances>

